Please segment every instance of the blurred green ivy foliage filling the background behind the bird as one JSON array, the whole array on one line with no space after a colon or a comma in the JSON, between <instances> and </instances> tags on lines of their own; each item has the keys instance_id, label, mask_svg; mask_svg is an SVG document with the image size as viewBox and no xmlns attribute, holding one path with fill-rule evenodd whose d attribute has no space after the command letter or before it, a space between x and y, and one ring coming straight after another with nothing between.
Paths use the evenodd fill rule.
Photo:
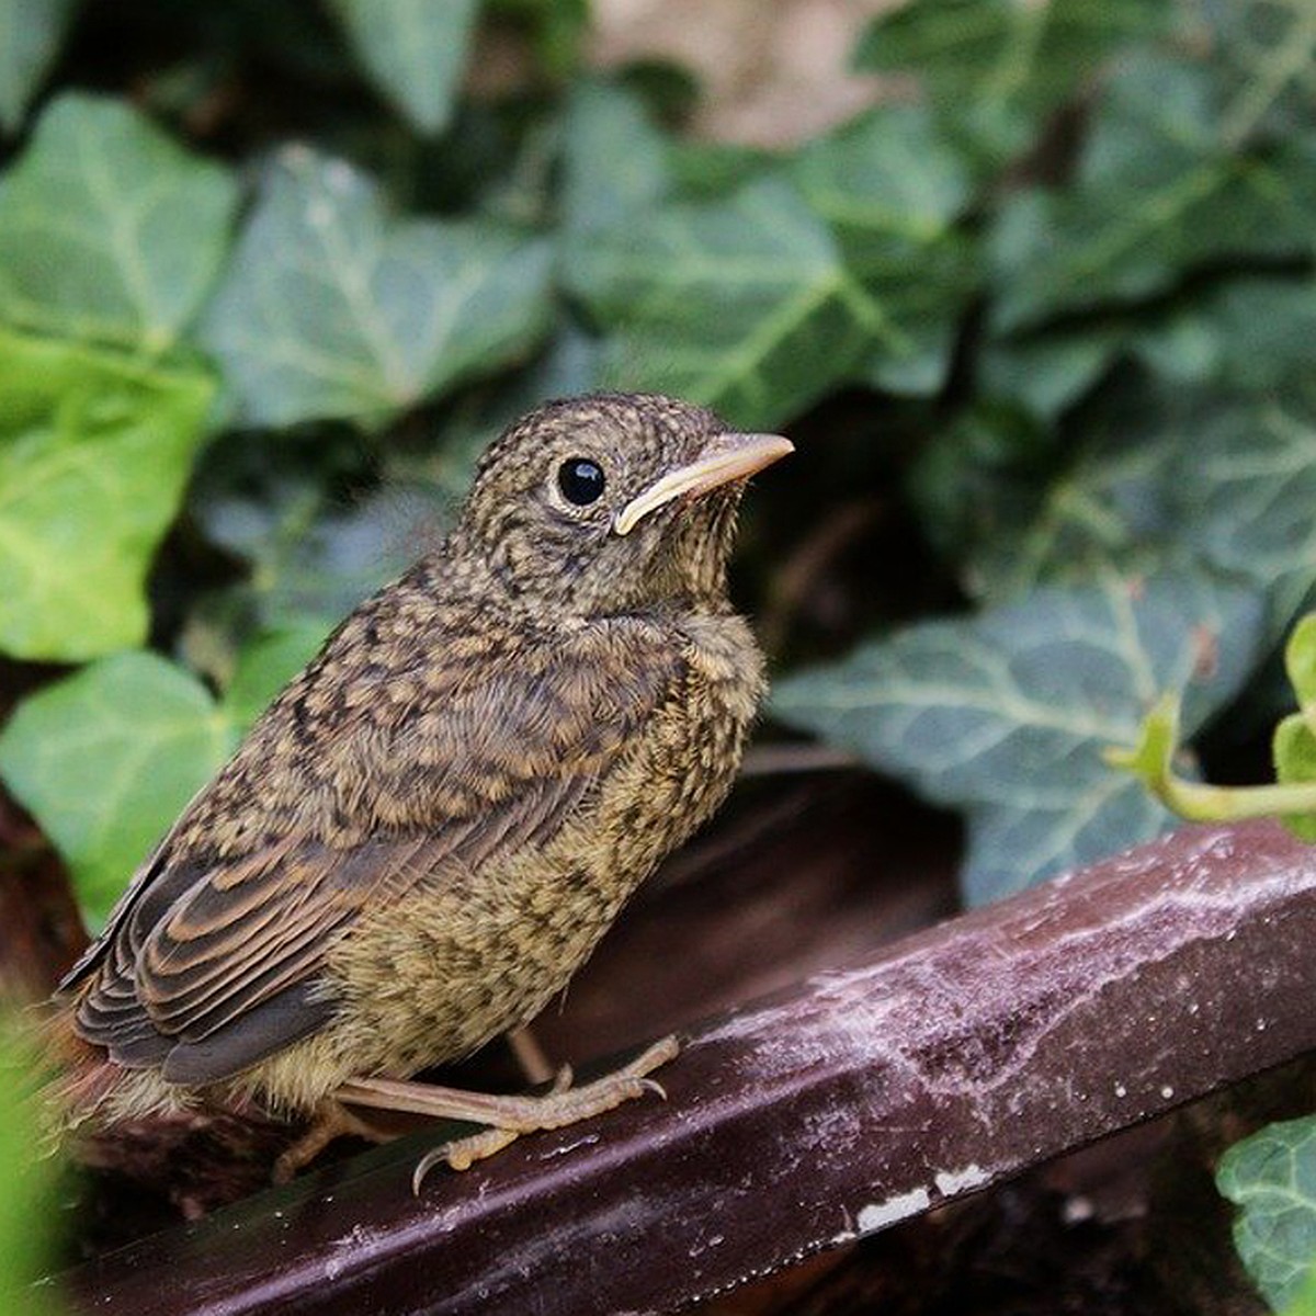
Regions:
<instances>
[{"instance_id":1,"label":"blurred green ivy foliage filling the background behind the bird","mask_svg":"<svg viewBox=\"0 0 1316 1316\"><path fill-rule=\"evenodd\" d=\"M1167 825L1100 754L1163 690L1262 770L1316 5L662 8L0 0L0 778L92 929L480 447L596 387L797 440L737 563L765 734L959 811L969 900Z\"/></svg>"}]
</instances>

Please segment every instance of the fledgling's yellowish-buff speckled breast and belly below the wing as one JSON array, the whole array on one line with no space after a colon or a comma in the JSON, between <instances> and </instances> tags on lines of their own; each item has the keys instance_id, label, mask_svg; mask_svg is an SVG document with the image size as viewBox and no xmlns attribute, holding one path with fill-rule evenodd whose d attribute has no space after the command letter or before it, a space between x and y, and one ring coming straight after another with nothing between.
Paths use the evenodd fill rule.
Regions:
<instances>
[{"instance_id":1,"label":"fledgling's yellowish-buff speckled breast and belly below the wing","mask_svg":"<svg viewBox=\"0 0 1316 1316\"><path fill-rule=\"evenodd\" d=\"M354 1045L409 1074L533 1017L722 803L763 692L740 617L679 628L680 676L550 837L422 883L336 957ZM346 1020L345 1020L346 1021Z\"/></svg>"}]
</instances>

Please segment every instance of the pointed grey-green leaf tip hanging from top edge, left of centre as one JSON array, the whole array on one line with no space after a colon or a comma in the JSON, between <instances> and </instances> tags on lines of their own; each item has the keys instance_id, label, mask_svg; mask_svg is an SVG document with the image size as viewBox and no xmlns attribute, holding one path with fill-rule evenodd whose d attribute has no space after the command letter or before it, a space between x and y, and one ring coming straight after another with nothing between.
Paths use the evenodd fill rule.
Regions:
<instances>
[{"instance_id":1,"label":"pointed grey-green leaf tip hanging from top edge, left of centre","mask_svg":"<svg viewBox=\"0 0 1316 1316\"><path fill-rule=\"evenodd\" d=\"M453 113L479 0L330 0L375 87L422 133Z\"/></svg>"}]
</instances>

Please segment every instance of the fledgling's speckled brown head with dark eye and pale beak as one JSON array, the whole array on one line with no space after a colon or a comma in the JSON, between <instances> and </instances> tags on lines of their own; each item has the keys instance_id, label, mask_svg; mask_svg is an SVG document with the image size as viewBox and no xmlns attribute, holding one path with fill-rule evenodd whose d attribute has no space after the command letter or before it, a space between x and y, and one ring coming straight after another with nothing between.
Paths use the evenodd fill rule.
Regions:
<instances>
[{"instance_id":1,"label":"fledgling's speckled brown head with dark eye and pale beak","mask_svg":"<svg viewBox=\"0 0 1316 1316\"><path fill-rule=\"evenodd\" d=\"M458 542L563 615L721 609L745 480L791 450L657 393L547 403L484 454Z\"/></svg>"}]
</instances>

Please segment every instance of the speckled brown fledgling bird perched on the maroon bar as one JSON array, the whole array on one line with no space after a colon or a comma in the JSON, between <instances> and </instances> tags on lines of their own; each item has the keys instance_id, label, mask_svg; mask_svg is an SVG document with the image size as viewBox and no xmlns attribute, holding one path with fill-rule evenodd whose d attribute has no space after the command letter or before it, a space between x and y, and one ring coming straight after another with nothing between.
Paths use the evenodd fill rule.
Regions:
<instances>
[{"instance_id":1,"label":"speckled brown fledgling bird perched on the maroon bar","mask_svg":"<svg viewBox=\"0 0 1316 1316\"><path fill-rule=\"evenodd\" d=\"M59 1121L355 1111L484 1132L661 1088L679 1046L542 1095L417 1080L533 1019L721 805L765 663L726 583L749 476L792 451L657 393L553 400L479 461L451 533L343 620L147 855L59 983Z\"/></svg>"}]
</instances>

